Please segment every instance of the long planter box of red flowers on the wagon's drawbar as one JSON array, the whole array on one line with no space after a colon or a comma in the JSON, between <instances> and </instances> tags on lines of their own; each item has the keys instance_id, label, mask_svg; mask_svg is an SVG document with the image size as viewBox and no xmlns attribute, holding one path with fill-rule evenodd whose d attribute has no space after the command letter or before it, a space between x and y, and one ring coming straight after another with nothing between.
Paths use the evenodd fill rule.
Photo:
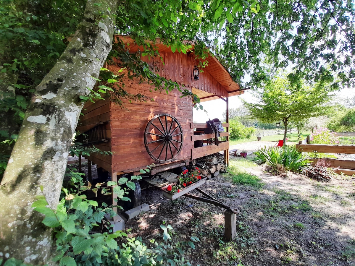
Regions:
<instances>
[{"instance_id":1,"label":"long planter box of red flowers on the wagon's drawbar","mask_svg":"<svg viewBox=\"0 0 355 266\"><path fill-rule=\"evenodd\" d=\"M175 183L171 183L162 187L165 198L174 200L202 185L206 178L200 176L200 169L198 167L193 170L185 170L179 174L179 179Z\"/></svg>"}]
</instances>

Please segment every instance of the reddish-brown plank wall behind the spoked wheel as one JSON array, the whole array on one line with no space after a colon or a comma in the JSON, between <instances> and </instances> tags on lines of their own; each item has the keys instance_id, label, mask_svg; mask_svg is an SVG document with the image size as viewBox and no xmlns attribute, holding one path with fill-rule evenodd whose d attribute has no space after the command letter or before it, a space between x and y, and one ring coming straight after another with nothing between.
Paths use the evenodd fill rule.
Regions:
<instances>
[{"instance_id":1,"label":"reddish-brown plank wall behind the spoked wheel","mask_svg":"<svg viewBox=\"0 0 355 266\"><path fill-rule=\"evenodd\" d=\"M144 146L144 131L155 115L168 113L174 116L181 124L184 133L184 145L177 160L191 159L192 128L192 101L180 98L181 93L175 90L166 94L151 89L151 85L126 82L128 93L141 93L153 98L154 101L134 102L124 100L124 109L111 103L111 151L113 154L113 172L121 172L133 168L145 167L154 161Z\"/></svg>"}]
</instances>

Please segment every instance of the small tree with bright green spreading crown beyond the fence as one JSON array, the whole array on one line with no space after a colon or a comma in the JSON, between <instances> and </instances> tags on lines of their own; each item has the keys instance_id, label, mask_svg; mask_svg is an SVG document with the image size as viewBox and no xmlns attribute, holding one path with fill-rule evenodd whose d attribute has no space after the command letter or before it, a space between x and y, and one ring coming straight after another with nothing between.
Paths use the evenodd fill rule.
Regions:
<instances>
[{"instance_id":1,"label":"small tree with bright green spreading crown beyond the fence","mask_svg":"<svg viewBox=\"0 0 355 266\"><path fill-rule=\"evenodd\" d=\"M324 105L329 100L332 89L324 83L313 86L299 84L295 88L283 77L276 77L266 86L256 91L259 98L257 104L245 102L252 118L262 122L282 120L284 132L284 145L289 121L305 121L309 117L319 116L327 111Z\"/></svg>"}]
</instances>

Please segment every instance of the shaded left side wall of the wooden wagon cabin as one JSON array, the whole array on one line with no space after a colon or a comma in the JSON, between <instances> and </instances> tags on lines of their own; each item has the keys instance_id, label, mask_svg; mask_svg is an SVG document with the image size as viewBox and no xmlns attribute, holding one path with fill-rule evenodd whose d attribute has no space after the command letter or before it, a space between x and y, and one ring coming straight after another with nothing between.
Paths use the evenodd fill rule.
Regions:
<instances>
[{"instance_id":1,"label":"shaded left side wall of the wooden wagon cabin","mask_svg":"<svg viewBox=\"0 0 355 266\"><path fill-rule=\"evenodd\" d=\"M99 122L105 123L105 132L107 138L111 138L111 125L110 125L110 101L109 100L97 100L95 103L88 101L84 105L82 110L83 115L80 116L77 130L81 133L85 133L87 130L96 126ZM110 142L95 144L95 147L100 150L110 151ZM92 161L98 167L102 167L111 172L112 156L92 153L87 156L87 159Z\"/></svg>"}]
</instances>

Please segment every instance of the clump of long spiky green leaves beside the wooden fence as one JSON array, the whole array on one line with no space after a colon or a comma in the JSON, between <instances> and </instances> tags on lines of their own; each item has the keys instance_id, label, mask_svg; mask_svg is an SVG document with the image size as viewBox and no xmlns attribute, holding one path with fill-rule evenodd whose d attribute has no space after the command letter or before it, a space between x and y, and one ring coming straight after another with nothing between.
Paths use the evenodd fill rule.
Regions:
<instances>
[{"instance_id":1,"label":"clump of long spiky green leaves beside the wooden fence","mask_svg":"<svg viewBox=\"0 0 355 266\"><path fill-rule=\"evenodd\" d=\"M254 152L256 163L267 164L277 173L286 170L299 172L310 163L306 156L299 153L295 146L284 147L266 147L260 148Z\"/></svg>"}]
</instances>

